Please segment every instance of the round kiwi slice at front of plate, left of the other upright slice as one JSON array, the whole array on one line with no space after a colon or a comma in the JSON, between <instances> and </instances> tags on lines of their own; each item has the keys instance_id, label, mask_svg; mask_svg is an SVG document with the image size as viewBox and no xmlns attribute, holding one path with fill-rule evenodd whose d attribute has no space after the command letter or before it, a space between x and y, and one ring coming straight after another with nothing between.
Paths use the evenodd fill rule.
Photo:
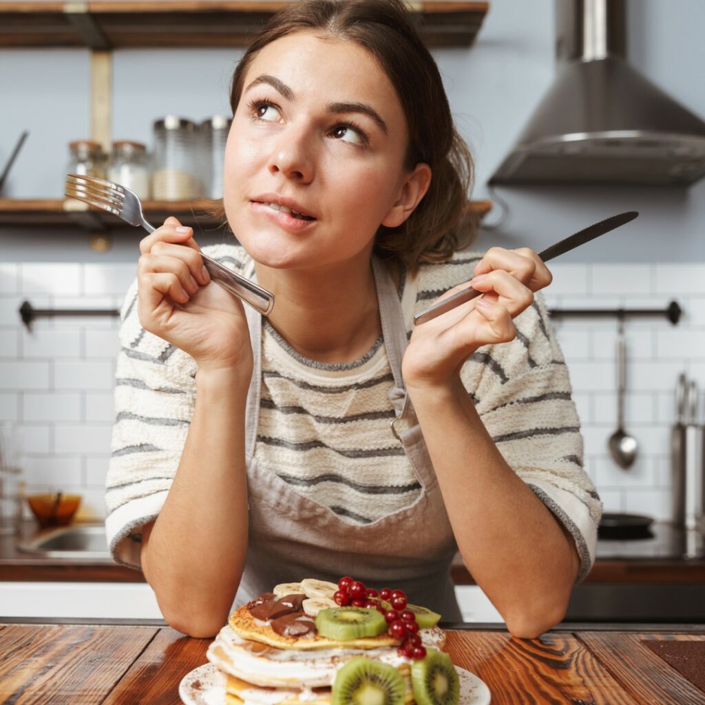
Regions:
<instances>
[{"instance_id":1,"label":"round kiwi slice at front of plate, left of the other upright slice","mask_svg":"<svg viewBox=\"0 0 705 705\"><path fill-rule=\"evenodd\" d=\"M403 705L405 690L394 666L356 656L336 673L331 705Z\"/></svg>"}]
</instances>

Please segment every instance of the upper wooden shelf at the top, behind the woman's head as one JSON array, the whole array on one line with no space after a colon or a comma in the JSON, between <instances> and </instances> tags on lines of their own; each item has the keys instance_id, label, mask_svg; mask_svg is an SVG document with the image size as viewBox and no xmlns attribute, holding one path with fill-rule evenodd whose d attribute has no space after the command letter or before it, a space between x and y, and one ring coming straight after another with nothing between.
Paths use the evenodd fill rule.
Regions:
<instances>
[{"instance_id":1,"label":"upper wooden shelf at the top, behind the woman's head","mask_svg":"<svg viewBox=\"0 0 705 705\"><path fill-rule=\"evenodd\" d=\"M238 47L290 2L160 0L152 2L3 2L0 47ZM430 47L469 47L488 2L413 2Z\"/></svg>"}]
</instances>

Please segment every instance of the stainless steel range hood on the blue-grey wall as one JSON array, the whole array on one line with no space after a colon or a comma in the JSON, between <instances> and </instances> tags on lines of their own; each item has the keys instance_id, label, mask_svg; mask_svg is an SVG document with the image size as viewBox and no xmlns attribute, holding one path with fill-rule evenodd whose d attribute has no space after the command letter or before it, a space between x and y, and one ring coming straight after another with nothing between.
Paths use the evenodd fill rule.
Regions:
<instances>
[{"instance_id":1,"label":"stainless steel range hood on the blue-grey wall","mask_svg":"<svg viewBox=\"0 0 705 705\"><path fill-rule=\"evenodd\" d=\"M558 75L491 185L687 185L705 122L625 61L625 0L556 0Z\"/></svg>"}]
</instances>

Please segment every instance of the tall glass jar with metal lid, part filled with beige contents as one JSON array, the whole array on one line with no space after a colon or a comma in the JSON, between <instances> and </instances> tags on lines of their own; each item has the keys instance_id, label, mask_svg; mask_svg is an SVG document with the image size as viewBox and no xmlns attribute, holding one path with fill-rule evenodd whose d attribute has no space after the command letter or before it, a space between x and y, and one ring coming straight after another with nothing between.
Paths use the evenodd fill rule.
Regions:
<instances>
[{"instance_id":1,"label":"tall glass jar with metal lid, part filled with beige contents","mask_svg":"<svg viewBox=\"0 0 705 705\"><path fill-rule=\"evenodd\" d=\"M198 171L196 123L173 115L155 121L152 197L159 201L197 198Z\"/></svg>"}]
</instances>

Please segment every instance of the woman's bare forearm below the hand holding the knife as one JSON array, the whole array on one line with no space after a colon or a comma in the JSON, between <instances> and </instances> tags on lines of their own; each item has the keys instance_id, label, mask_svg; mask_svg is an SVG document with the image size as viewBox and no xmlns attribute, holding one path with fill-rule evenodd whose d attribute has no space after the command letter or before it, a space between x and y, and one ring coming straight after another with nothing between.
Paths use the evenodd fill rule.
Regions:
<instances>
[{"instance_id":1,"label":"woman's bare forearm below the hand holding the knife","mask_svg":"<svg viewBox=\"0 0 705 705\"><path fill-rule=\"evenodd\" d=\"M568 606L570 534L504 460L460 379L409 393L465 565L513 635L539 635Z\"/></svg>"}]
</instances>

